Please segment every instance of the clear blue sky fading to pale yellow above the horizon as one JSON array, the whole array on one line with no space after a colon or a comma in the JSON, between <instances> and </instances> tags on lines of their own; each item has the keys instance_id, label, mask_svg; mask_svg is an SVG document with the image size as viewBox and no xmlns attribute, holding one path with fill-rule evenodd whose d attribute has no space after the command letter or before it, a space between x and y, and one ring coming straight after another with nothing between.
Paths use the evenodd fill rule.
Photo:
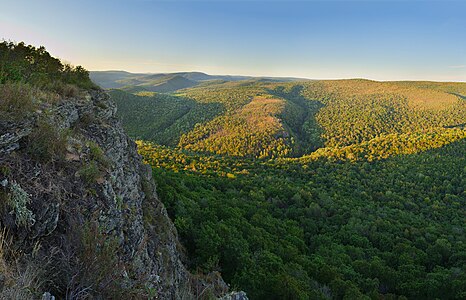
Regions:
<instances>
[{"instance_id":1,"label":"clear blue sky fading to pale yellow above the horizon","mask_svg":"<svg viewBox=\"0 0 466 300\"><path fill-rule=\"evenodd\" d=\"M0 0L0 38L90 70L466 81L465 1Z\"/></svg>"}]
</instances>

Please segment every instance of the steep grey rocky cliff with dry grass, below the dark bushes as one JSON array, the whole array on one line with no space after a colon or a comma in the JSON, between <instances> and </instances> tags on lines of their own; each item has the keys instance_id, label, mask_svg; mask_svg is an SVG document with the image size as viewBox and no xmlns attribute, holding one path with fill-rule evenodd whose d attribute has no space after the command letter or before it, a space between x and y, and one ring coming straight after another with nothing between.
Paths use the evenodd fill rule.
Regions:
<instances>
[{"instance_id":1,"label":"steep grey rocky cliff with dry grass, below the dark bushes","mask_svg":"<svg viewBox=\"0 0 466 300\"><path fill-rule=\"evenodd\" d=\"M151 170L115 112L104 92L88 91L0 119L0 298L226 291L220 277L209 285L184 267Z\"/></svg>"}]
</instances>

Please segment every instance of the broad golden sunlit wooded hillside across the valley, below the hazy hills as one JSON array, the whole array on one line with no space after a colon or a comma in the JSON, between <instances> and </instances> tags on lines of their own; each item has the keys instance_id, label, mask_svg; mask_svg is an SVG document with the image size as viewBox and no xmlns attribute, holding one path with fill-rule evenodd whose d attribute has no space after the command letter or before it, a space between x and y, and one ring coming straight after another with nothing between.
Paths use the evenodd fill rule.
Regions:
<instances>
[{"instance_id":1,"label":"broad golden sunlit wooded hillside across the valley, below the hazy hills","mask_svg":"<svg viewBox=\"0 0 466 300\"><path fill-rule=\"evenodd\" d=\"M466 123L464 83L247 80L196 86L170 96L111 94L132 136L233 156L297 157L319 148L331 155L393 135L408 140L426 132L441 135ZM247 122L247 111L260 118L263 107L251 108L263 98L282 105L268 118ZM429 136L437 138L442 137Z\"/></svg>"}]
</instances>

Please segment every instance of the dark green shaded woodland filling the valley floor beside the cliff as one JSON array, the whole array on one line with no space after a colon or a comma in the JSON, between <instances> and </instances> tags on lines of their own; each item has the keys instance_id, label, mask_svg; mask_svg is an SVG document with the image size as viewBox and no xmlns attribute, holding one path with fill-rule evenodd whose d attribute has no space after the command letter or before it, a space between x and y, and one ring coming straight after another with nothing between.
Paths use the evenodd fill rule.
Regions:
<instances>
[{"instance_id":1,"label":"dark green shaded woodland filling the valley floor beside the cliff","mask_svg":"<svg viewBox=\"0 0 466 300\"><path fill-rule=\"evenodd\" d=\"M191 268L251 299L464 299L466 140L379 161L139 143Z\"/></svg>"}]
</instances>

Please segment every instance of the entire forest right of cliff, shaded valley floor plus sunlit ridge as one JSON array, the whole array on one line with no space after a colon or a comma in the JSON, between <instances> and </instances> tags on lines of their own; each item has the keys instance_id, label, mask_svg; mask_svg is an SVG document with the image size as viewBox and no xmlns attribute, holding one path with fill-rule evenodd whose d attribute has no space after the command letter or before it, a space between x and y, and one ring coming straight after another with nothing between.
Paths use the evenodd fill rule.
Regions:
<instances>
[{"instance_id":1,"label":"entire forest right of cliff, shaded valley floor plus sunlit ridge","mask_svg":"<svg viewBox=\"0 0 466 300\"><path fill-rule=\"evenodd\" d=\"M111 90L194 272L250 299L466 298L466 84Z\"/></svg>"}]
</instances>

